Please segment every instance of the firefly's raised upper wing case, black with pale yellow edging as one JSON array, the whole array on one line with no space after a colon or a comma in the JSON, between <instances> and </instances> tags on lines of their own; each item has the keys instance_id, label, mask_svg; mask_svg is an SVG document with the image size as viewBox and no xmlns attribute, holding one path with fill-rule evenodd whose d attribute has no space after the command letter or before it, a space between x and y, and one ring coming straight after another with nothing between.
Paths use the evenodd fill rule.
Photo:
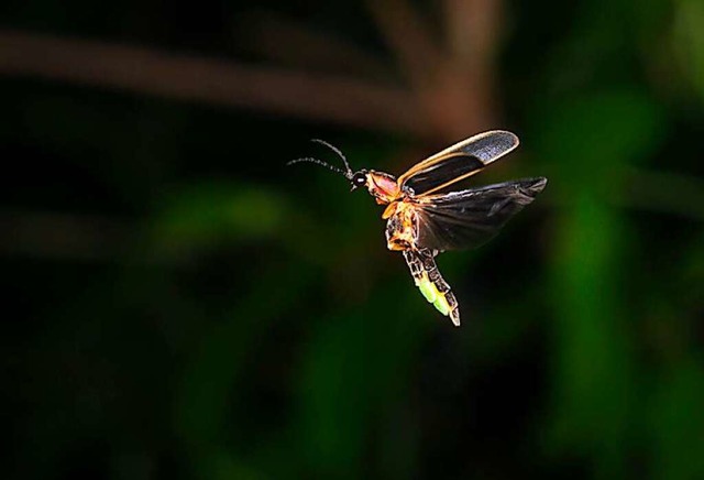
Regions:
<instances>
[{"instance_id":1,"label":"firefly's raised upper wing case, black with pale yellow edging","mask_svg":"<svg viewBox=\"0 0 704 480\"><path fill-rule=\"evenodd\" d=\"M518 146L512 132L493 130L455 143L414 165L398 177L398 185L415 195L429 195L479 173Z\"/></svg>"}]
</instances>

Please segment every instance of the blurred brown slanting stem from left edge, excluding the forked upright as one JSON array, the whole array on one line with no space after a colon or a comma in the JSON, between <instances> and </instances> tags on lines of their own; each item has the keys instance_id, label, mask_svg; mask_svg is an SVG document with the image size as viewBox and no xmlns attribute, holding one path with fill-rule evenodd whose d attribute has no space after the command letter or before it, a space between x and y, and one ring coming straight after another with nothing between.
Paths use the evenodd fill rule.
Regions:
<instances>
[{"instance_id":1,"label":"blurred brown slanting stem from left edge, excluding the forked upright","mask_svg":"<svg viewBox=\"0 0 704 480\"><path fill-rule=\"evenodd\" d=\"M107 42L0 31L0 73L253 108L352 127L422 131L413 99L392 85L258 68Z\"/></svg>"}]
</instances>

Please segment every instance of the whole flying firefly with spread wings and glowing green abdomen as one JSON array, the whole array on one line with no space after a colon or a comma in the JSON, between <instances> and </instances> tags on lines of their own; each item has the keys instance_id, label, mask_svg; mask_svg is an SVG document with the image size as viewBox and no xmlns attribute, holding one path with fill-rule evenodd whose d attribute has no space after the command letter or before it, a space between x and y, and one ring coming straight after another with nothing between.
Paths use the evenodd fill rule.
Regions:
<instances>
[{"instance_id":1,"label":"whole flying firefly with spread wings and glowing green abdomen","mask_svg":"<svg viewBox=\"0 0 704 480\"><path fill-rule=\"evenodd\" d=\"M322 140L314 141L342 159L344 170L311 157L288 164L311 162L326 166L342 174L352 190L365 187L377 204L385 205L382 218L386 220L387 248L403 253L416 286L455 326L460 326L459 304L438 270L436 257L447 250L486 243L548 183L544 177L535 177L447 190L518 146L518 137L503 130L479 133L448 146L399 177L374 170L354 172L339 149Z\"/></svg>"}]
</instances>

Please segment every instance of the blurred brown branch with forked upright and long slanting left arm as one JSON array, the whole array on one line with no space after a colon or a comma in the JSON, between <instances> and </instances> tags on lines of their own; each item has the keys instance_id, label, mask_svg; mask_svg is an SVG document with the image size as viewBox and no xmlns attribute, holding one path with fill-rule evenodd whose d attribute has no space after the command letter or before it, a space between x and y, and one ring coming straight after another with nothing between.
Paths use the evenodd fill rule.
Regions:
<instances>
[{"instance_id":1,"label":"blurred brown branch with forked upright and long slanting left arm","mask_svg":"<svg viewBox=\"0 0 704 480\"><path fill-rule=\"evenodd\" d=\"M370 2L410 88L388 79L380 81L378 63L370 67L375 62L358 48L295 26L277 34L277 45L288 45L289 61L299 58L297 63L309 67L318 61L330 64L330 58L344 58L348 64L361 64L360 69L369 70L371 78L311 73L309 68L254 67L8 30L0 31L0 73L455 141L495 123L492 85L498 4L496 0L446 2L449 45L441 46L432 39L429 22L408 1ZM267 23L261 23L266 28ZM257 34L258 30L249 28L245 33L262 39L265 35ZM275 48L264 46L262 51L279 56Z\"/></svg>"}]
</instances>

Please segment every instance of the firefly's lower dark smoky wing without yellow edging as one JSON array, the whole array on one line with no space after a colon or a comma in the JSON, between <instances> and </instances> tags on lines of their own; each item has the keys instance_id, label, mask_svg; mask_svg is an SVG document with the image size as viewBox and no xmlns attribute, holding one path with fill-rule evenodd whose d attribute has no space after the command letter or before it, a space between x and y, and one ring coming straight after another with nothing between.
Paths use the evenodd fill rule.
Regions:
<instances>
[{"instance_id":1,"label":"firefly's lower dark smoky wing without yellow edging","mask_svg":"<svg viewBox=\"0 0 704 480\"><path fill-rule=\"evenodd\" d=\"M480 247L530 204L547 182L543 177L524 178L416 198L416 246L438 251Z\"/></svg>"}]
</instances>

